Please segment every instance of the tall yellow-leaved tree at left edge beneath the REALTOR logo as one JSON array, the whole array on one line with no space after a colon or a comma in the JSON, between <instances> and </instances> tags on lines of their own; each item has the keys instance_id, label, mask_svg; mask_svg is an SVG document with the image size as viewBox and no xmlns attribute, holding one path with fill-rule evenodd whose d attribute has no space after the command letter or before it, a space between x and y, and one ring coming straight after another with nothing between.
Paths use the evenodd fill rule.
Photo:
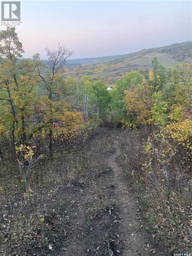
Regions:
<instances>
[{"instance_id":1,"label":"tall yellow-leaved tree at left edge beneath the REALTOR logo","mask_svg":"<svg viewBox=\"0 0 192 256\"><path fill-rule=\"evenodd\" d=\"M31 60L20 60L24 52L14 27L0 33L0 95L1 115L13 148L25 144L33 130L35 87L39 82Z\"/></svg>"}]
</instances>

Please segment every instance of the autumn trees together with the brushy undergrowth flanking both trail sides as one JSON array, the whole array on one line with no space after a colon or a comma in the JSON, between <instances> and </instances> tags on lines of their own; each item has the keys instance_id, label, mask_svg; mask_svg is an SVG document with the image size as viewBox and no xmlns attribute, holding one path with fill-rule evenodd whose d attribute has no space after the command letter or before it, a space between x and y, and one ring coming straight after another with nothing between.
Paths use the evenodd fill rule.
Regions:
<instances>
[{"instance_id":1,"label":"autumn trees together with the brushy undergrowth flanking both trail sides","mask_svg":"<svg viewBox=\"0 0 192 256\"><path fill-rule=\"evenodd\" d=\"M45 168L83 171L96 127L122 127L126 168L146 190L148 229L172 250L188 246L191 63L166 69L154 58L150 71L129 72L108 91L102 80L65 76L72 52L61 43L45 50L46 61L24 59L15 28L0 32L0 175L16 177L30 198Z\"/></svg>"}]
</instances>

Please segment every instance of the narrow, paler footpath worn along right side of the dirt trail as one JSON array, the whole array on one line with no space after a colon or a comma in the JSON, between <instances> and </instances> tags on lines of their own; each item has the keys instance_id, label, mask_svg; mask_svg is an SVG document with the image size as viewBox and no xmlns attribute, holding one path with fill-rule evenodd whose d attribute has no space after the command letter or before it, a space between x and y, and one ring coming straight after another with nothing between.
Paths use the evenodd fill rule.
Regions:
<instances>
[{"instance_id":1,"label":"narrow, paler footpath worn along right side of the dirt trail","mask_svg":"<svg viewBox=\"0 0 192 256\"><path fill-rule=\"evenodd\" d=\"M120 255L135 256L149 255L150 246L148 234L143 231L143 225L138 217L139 204L135 196L132 195L129 184L125 181L123 170L117 163L117 157L120 154L119 143L117 138L112 135L113 144L116 146L114 154L110 155L107 160L113 169L113 183L116 187L116 200L119 205L119 237L120 237Z\"/></svg>"}]
</instances>

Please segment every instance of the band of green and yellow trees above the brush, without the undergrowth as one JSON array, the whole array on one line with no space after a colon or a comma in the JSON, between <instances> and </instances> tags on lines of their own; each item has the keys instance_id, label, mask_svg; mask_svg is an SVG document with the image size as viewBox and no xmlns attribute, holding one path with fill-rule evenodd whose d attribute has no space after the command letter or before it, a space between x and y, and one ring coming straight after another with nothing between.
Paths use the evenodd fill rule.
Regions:
<instances>
[{"instance_id":1,"label":"band of green and yellow trees above the brush, without the undergrowth","mask_svg":"<svg viewBox=\"0 0 192 256\"><path fill-rule=\"evenodd\" d=\"M14 27L0 32L0 156L16 161L25 179L40 158L52 158L54 139L107 122L132 129L153 126L190 148L191 65L165 69L154 58L152 70L132 71L106 90L101 80L65 77L72 52L60 43L23 59ZM46 148L39 150L39 145ZM42 154L44 151L44 154Z\"/></svg>"}]
</instances>

